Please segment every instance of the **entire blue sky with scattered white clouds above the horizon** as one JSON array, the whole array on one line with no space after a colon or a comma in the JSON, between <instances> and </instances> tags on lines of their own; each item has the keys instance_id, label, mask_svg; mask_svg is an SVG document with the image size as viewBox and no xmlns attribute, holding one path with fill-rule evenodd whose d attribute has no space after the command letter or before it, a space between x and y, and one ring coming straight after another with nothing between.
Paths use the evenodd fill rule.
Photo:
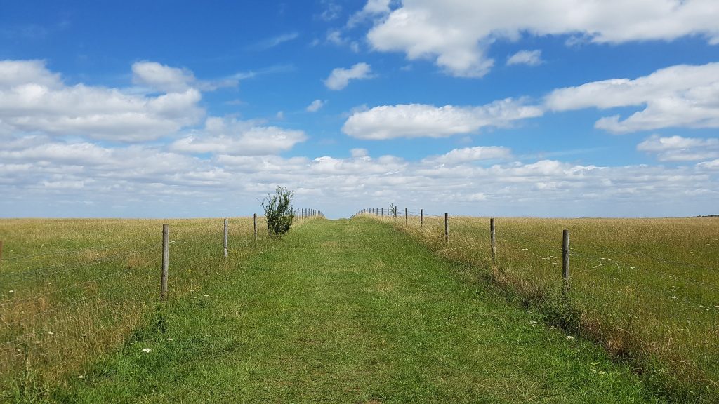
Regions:
<instances>
[{"instance_id":1,"label":"entire blue sky with scattered white clouds above the horizon","mask_svg":"<svg viewBox=\"0 0 719 404\"><path fill-rule=\"evenodd\" d=\"M0 0L1 217L719 214L716 0Z\"/></svg>"}]
</instances>

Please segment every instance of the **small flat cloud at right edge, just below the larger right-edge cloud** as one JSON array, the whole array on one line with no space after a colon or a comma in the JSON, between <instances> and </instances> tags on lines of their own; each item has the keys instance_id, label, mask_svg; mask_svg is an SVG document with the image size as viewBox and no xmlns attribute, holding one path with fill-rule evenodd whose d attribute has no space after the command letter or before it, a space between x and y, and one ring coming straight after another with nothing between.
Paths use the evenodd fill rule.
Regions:
<instances>
[{"instance_id":1,"label":"small flat cloud at right edge, just below the larger right-edge cloud","mask_svg":"<svg viewBox=\"0 0 719 404\"><path fill-rule=\"evenodd\" d=\"M697 161L719 158L719 139L651 135L637 145L640 152L655 153L659 161Z\"/></svg>"}]
</instances>

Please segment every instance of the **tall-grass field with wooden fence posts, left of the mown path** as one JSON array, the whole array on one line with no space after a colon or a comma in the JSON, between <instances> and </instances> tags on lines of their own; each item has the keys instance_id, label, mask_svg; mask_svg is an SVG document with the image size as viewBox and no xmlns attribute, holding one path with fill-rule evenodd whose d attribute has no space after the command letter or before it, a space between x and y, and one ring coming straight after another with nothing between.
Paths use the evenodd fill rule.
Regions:
<instances>
[{"instance_id":1,"label":"tall-grass field with wooden fence posts, left of the mown path","mask_svg":"<svg viewBox=\"0 0 719 404\"><path fill-rule=\"evenodd\" d=\"M321 217L301 209L296 224ZM0 401L120 344L159 302L272 246L265 218L0 222ZM10 236L10 237L9 237Z\"/></svg>"}]
</instances>

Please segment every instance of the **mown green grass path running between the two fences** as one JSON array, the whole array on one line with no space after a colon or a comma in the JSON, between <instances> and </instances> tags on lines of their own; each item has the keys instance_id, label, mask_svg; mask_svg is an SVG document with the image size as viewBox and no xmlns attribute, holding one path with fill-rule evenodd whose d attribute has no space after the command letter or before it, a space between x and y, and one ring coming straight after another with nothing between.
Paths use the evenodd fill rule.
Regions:
<instances>
[{"instance_id":1,"label":"mown green grass path running between the two fences","mask_svg":"<svg viewBox=\"0 0 719 404\"><path fill-rule=\"evenodd\" d=\"M310 221L51 393L116 403L661 401L370 219ZM205 296L206 295L206 296ZM168 340L168 339L171 339ZM151 352L142 352L149 348Z\"/></svg>"}]
</instances>

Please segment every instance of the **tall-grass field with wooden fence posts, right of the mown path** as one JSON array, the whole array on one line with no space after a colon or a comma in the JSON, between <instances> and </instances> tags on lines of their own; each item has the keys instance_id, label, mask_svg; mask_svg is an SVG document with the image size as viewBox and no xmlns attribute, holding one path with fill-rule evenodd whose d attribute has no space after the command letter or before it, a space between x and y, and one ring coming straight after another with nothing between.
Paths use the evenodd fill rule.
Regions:
<instances>
[{"instance_id":1,"label":"tall-grass field with wooden fence posts, right of the mown path","mask_svg":"<svg viewBox=\"0 0 719 404\"><path fill-rule=\"evenodd\" d=\"M485 269L612 352L642 364L659 358L669 385L719 397L716 219L494 219L394 206L357 215L388 221L439 254Z\"/></svg>"}]
</instances>

